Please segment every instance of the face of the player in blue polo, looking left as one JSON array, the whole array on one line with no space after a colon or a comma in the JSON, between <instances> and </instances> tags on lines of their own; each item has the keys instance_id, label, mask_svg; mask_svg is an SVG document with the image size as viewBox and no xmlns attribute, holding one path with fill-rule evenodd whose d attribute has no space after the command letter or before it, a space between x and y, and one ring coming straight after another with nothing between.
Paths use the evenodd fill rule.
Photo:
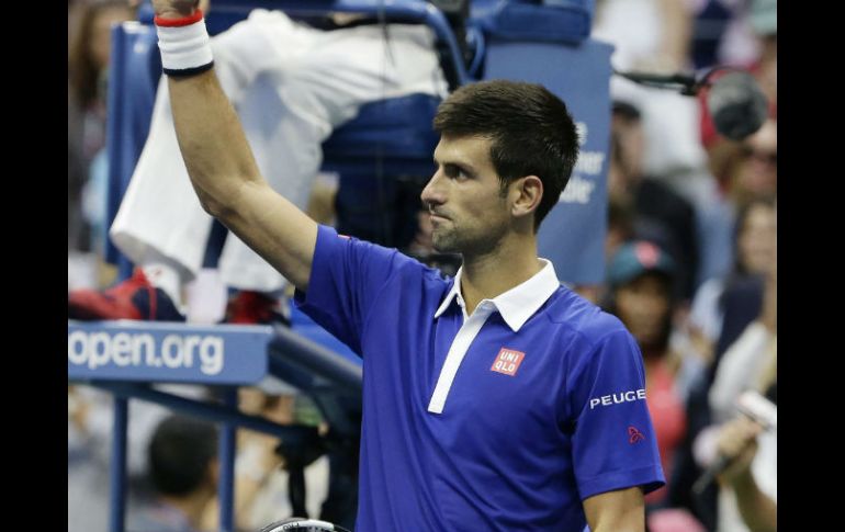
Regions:
<instances>
[{"instance_id":1,"label":"face of the player in blue polo, looking left","mask_svg":"<svg viewBox=\"0 0 845 532\"><path fill-rule=\"evenodd\" d=\"M435 149L438 169L420 197L440 252L486 253L508 230L509 204L489 158L491 144L485 137L444 135Z\"/></svg>"}]
</instances>

